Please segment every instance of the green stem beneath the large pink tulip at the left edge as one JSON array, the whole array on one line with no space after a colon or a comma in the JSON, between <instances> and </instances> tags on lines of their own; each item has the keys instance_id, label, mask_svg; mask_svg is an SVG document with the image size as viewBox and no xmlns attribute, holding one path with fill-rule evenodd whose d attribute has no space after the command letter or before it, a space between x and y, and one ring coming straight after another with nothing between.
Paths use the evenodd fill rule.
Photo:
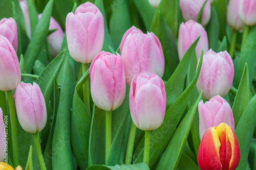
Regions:
<instances>
[{"instance_id":1,"label":"green stem beneath the large pink tulip at the left edge","mask_svg":"<svg viewBox=\"0 0 256 170\"><path fill-rule=\"evenodd\" d=\"M7 98L8 98L10 118L11 118L13 165L18 166L19 165L18 133L17 133L16 114L15 114L12 90L7 91Z\"/></svg>"}]
</instances>

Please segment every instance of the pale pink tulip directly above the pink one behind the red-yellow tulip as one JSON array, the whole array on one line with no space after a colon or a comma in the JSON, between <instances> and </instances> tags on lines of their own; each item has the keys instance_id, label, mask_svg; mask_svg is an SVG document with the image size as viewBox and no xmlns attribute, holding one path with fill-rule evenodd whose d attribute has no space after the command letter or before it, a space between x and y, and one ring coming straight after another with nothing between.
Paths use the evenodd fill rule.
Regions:
<instances>
[{"instance_id":1,"label":"pale pink tulip directly above the pink one behind the red-yellow tulip","mask_svg":"<svg viewBox=\"0 0 256 170\"><path fill-rule=\"evenodd\" d=\"M199 64L199 61L198 61ZM230 55L209 50L203 58L202 68L197 81L197 89L203 90L203 98L209 100L215 95L224 97L232 86L234 65Z\"/></svg>"}]
</instances>

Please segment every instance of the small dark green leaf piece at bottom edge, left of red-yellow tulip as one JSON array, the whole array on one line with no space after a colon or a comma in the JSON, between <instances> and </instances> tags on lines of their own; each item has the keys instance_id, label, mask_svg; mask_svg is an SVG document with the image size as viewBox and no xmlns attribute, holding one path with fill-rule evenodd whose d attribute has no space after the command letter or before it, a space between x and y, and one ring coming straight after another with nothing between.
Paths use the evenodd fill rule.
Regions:
<instances>
[{"instance_id":1,"label":"small dark green leaf piece at bottom edge, left of red-yellow tulip","mask_svg":"<svg viewBox=\"0 0 256 170\"><path fill-rule=\"evenodd\" d=\"M200 168L188 156L181 154L177 170L200 170Z\"/></svg>"}]
</instances>

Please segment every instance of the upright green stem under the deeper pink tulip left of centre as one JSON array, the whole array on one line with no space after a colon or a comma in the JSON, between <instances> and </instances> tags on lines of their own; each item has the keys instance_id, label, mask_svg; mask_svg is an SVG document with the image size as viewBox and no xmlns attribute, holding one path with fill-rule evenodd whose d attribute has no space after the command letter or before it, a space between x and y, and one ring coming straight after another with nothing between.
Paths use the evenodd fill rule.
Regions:
<instances>
[{"instance_id":1,"label":"upright green stem under the deeper pink tulip left of centre","mask_svg":"<svg viewBox=\"0 0 256 170\"><path fill-rule=\"evenodd\" d=\"M106 111L106 152L105 152L105 162L108 160L110 147L111 147L111 130L112 130L112 111Z\"/></svg>"}]
</instances>

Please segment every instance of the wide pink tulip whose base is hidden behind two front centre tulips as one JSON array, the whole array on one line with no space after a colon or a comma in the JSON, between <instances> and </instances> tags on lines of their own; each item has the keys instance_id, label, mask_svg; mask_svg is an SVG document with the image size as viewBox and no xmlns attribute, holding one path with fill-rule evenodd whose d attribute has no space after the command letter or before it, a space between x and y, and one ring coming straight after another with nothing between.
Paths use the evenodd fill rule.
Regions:
<instances>
[{"instance_id":1,"label":"wide pink tulip whose base is hidden behind two front centre tulips","mask_svg":"<svg viewBox=\"0 0 256 170\"><path fill-rule=\"evenodd\" d=\"M160 77L163 76L163 50L154 33L143 34L133 26L124 33L120 52L128 85L131 84L134 75L141 71L150 71Z\"/></svg>"}]
</instances>

